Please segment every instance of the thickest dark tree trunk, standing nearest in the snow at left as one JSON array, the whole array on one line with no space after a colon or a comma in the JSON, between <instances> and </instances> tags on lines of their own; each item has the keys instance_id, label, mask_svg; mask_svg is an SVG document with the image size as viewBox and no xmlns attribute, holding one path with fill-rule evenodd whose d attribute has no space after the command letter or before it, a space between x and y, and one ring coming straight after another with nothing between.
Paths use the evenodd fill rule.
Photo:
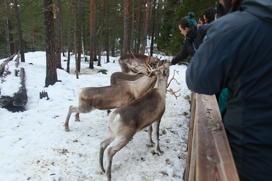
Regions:
<instances>
[{"instance_id":1,"label":"thickest dark tree trunk, standing nearest in the snow at left","mask_svg":"<svg viewBox=\"0 0 272 181\"><path fill-rule=\"evenodd\" d=\"M54 21L52 0L43 0L44 8L44 34L46 51L46 78L45 87L54 85L57 79L55 42L54 42ZM21 50L20 50L21 51Z\"/></svg>"}]
</instances>

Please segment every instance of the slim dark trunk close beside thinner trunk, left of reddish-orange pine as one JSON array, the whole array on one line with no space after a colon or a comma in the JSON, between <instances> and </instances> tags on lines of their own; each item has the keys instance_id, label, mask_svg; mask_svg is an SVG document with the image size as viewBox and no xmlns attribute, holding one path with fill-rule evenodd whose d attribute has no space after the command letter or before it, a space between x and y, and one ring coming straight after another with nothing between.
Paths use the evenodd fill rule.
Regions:
<instances>
[{"instance_id":1,"label":"slim dark trunk close beside thinner trunk, left of reddish-orange pine","mask_svg":"<svg viewBox=\"0 0 272 181\"><path fill-rule=\"evenodd\" d=\"M82 53L82 2L78 0L78 56L77 56L77 70L80 72L80 62Z\"/></svg>"}]
</instances>

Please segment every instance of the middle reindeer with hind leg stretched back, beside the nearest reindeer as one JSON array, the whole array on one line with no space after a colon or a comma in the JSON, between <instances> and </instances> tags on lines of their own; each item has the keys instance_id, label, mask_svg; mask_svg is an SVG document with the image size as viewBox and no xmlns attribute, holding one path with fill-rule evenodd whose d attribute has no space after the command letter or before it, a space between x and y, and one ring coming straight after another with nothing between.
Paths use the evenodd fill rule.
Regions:
<instances>
[{"instance_id":1,"label":"middle reindeer with hind leg stretched back, beside the nearest reindeer","mask_svg":"<svg viewBox=\"0 0 272 181\"><path fill-rule=\"evenodd\" d=\"M154 87L156 79L157 75L153 72L151 76L143 76L135 81L121 81L118 84L105 87L85 87L79 89L78 107L69 107L64 124L65 131L70 131L68 124L71 113L76 113L75 121L80 121L79 113L89 113L96 109L115 109L142 96Z\"/></svg>"}]
</instances>

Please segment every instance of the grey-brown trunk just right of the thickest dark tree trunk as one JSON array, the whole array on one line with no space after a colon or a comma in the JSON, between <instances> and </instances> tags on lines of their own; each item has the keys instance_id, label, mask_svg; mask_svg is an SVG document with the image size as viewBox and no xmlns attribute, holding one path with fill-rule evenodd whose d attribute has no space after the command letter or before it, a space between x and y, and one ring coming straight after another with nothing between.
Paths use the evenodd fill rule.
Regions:
<instances>
[{"instance_id":1,"label":"grey-brown trunk just right of the thickest dark tree trunk","mask_svg":"<svg viewBox=\"0 0 272 181\"><path fill-rule=\"evenodd\" d=\"M61 0L57 0L56 9L56 30L57 30L57 37L56 37L56 60L57 60L57 68L63 69L61 67Z\"/></svg>"}]
</instances>

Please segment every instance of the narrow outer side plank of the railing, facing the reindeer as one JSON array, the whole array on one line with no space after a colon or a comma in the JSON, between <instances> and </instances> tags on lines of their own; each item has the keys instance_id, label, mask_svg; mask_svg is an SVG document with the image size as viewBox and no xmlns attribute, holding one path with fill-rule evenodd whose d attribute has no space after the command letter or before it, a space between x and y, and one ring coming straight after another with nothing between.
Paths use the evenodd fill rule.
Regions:
<instances>
[{"instance_id":1,"label":"narrow outer side plank of the railing, facing the reindeer","mask_svg":"<svg viewBox=\"0 0 272 181\"><path fill-rule=\"evenodd\" d=\"M192 144L193 144L193 129L194 129L194 120L195 120L195 108L196 108L196 93L192 92L191 95L191 116L189 122L189 134L188 134L188 143L187 143L187 160L186 160L186 170L185 170L185 179L184 181L188 181L189 179L189 170L191 163L191 154L192 154ZM194 164L194 163L193 163Z\"/></svg>"}]
</instances>

